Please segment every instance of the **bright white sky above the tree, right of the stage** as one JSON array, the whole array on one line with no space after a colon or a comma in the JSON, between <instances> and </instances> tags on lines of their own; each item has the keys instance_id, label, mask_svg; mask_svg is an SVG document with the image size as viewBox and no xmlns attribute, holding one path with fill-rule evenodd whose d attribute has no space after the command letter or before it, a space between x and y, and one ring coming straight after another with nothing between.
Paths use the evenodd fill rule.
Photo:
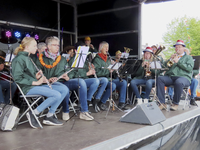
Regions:
<instances>
[{"instance_id":1,"label":"bright white sky above the tree, right of the stage","mask_svg":"<svg viewBox=\"0 0 200 150\"><path fill-rule=\"evenodd\" d=\"M200 19L200 0L175 0L142 6L142 45L160 45L167 24L184 16Z\"/></svg>"}]
</instances>

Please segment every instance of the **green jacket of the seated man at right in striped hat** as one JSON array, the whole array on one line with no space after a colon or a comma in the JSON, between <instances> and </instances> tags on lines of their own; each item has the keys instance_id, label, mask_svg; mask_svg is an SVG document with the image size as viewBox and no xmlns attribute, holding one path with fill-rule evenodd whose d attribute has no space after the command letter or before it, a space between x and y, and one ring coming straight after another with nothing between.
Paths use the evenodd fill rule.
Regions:
<instances>
[{"instance_id":1,"label":"green jacket of the seated man at right in striped hat","mask_svg":"<svg viewBox=\"0 0 200 150\"><path fill-rule=\"evenodd\" d=\"M169 70L166 71L165 76L185 77L191 82L192 70L194 67L194 60L192 56L185 54L179 59L178 63L174 63L172 67L167 66L168 61L169 60L165 61L164 63L165 66L169 68Z\"/></svg>"}]
</instances>

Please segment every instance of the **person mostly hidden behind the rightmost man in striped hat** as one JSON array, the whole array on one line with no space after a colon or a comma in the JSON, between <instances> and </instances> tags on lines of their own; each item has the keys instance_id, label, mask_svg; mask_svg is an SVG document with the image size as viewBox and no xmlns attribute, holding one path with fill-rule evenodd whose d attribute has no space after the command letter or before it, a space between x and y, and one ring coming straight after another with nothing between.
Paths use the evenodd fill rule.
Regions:
<instances>
[{"instance_id":1,"label":"person mostly hidden behind the rightmost man in striped hat","mask_svg":"<svg viewBox=\"0 0 200 150\"><path fill-rule=\"evenodd\" d=\"M187 48L184 48L184 51L187 55L190 55L190 50ZM191 91L191 99L190 99L190 105L198 106L197 103L195 102L196 99L196 89L198 86L198 80L196 79L196 76L199 74L199 69L193 70L193 76L190 84L190 91ZM173 99L173 92L174 89L172 87L168 88L168 94L170 96L170 99Z\"/></svg>"}]
</instances>

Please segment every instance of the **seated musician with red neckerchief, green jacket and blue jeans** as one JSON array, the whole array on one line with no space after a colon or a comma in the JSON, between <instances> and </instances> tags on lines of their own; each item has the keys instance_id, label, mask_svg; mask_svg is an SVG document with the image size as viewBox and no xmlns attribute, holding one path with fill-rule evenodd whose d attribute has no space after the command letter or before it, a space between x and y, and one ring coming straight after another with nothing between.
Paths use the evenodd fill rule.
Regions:
<instances>
[{"instance_id":1,"label":"seated musician with red neckerchief, green jacket and blue jeans","mask_svg":"<svg viewBox=\"0 0 200 150\"><path fill-rule=\"evenodd\" d=\"M98 103L98 106L101 110L106 110L107 106L105 105L106 101L109 99L111 94L110 89L110 72L113 72L113 70L106 69L110 64L111 60L108 58L107 53L109 50L109 44L105 41L101 42L99 44L99 53L95 56L93 59L93 64L95 66L96 74L98 77L107 77L109 79L109 83L107 84L106 91L104 92L103 96L101 97L100 102ZM118 107L120 109L127 109L125 100L126 100L126 88L127 88L127 82L126 80L119 78L113 79L112 81L112 91L115 89L119 90L119 103Z\"/></svg>"}]
</instances>

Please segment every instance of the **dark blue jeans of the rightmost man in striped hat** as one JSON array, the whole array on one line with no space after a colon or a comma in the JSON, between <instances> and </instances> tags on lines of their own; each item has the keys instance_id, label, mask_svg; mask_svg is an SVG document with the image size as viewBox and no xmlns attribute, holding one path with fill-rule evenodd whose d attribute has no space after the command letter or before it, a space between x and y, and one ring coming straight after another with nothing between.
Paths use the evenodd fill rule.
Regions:
<instances>
[{"instance_id":1,"label":"dark blue jeans of the rightmost man in striped hat","mask_svg":"<svg viewBox=\"0 0 200 150\"><path fill-rule=\"evenodd\" d=\"M159 76L157 78L157 96L161 103L165 103L165 86L174 86L173 103L178 105L183 88L190 85L190 81L185 77Z\"/></svg>"}]
</instances>

